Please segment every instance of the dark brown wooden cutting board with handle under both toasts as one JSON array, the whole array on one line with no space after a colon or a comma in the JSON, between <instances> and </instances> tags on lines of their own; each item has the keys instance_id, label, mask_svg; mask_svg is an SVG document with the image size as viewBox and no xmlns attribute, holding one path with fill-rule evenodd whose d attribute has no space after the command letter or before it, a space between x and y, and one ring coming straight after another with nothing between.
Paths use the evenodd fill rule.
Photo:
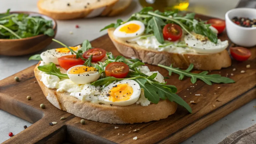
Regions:
<instances>
[{"instance_id":1,"label":"dark brown wooden cutting board with handle under both toasts","mask_svg":"<svg viewBox=\"0 0 256 144\"><path fill-rule=\"evenodd\" d=\"M207 20L210 17L197 15ZM221 40L228 39L226 33L219 36ZM115 49L108 35L104 35L91 42L93 47L100 47L117 56L120 53ZM81 118L54 107L43 95L31 66L13 76L0 81L0 109L19 118L34 123L27 129L11 137L4 143L179 143L191 137L200 130L218 121L232 111L240 108L256 98L256 47L250 48L252 56L248 61L232 61L232 66L210 74L221 74L236 81L234 84L206 85L198 80L191 84L190 78L178 80L178 75L168 76L167 70L147 65L151 71L158 70L166 79L168 85L178 88L177 94L191 106L193 113L178 106L174 115L159 121L141 124L105 124L86 120L80 123ZM250 64L250 68L246 65ZM236 70L233 71L233 68ZM240 71L244 70L245 73ZM200 71L194 71L199 73ZM231 76L231 73L233 76ZM18 76L20 82L14 77ZM220 88L218 88L220 87ZM195 96L200 94L200 96ZM26 97L30 95L31 100ZM186 96L186 97L185 97ZM190 104L190 101L197 104ZM40 104L46 108L41 109ZM214 107L215 105L215 107ZM67 117L60 120L61 117ZM49 122L58 124L49 126ZM119 127L119 129L114 129ZM140 129L136 130L135 129ZM133 137L137 136L137 140Z\"/></svg>"}]
</instances>

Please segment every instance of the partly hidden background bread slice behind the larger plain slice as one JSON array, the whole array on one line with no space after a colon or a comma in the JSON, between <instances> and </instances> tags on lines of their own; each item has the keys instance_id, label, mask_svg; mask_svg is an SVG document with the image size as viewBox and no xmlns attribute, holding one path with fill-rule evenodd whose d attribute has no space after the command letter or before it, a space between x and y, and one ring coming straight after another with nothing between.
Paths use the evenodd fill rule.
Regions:
<instances>
[{"instance_id":1,"label":"partly hidden background bread slice behind the larger plain slice","mask_svg":"<svg viewBox=\"0 0 256 144\"><path fill-rule=\"evenodd\" d=\"M119 15L120 13L122 13L124 10L127 9L127 7L129 7L129 5L131 4L132 0L119 0L117 3L115 3L115 5L112 7L111 11L106 14L107 16L115 16L115 15ZM102 15L105 16L105 15Z\"/></svg>"}]
</instances>

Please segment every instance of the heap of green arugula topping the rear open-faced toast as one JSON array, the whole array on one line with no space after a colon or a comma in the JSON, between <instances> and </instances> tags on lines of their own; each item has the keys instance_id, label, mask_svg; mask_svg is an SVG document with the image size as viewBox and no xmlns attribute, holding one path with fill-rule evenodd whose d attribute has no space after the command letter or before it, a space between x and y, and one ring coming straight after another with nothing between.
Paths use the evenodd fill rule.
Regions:
<instances>
[{"instance_id":1,"label":"heap of green arugula topping the rear open-faced toast","mask_svg":"<svg viewBox=\"0 0 256 144\"><path fill-rule=\"evenodd\" d=\"M165 11L160 12L158 10L153 11L152 7L145 7L140 12L133 14L128 20L123 22L118 19L116 24L112 23L105 26L102 30L111 27L117 28L119 25L129 22L131 20L139 20L145 25L146 34L154 34L159 43L164 43L163 27L169 23L175 23L182 27L188 34L192 35L194 31L197 34L207 36L213 43L217 43L217 35L209 28L210 24L205 24L204 21L198 21L195 19L195 13L188 13L185 16L177 14L178 11ZM143 37L142 37L143 38Z\"/></svg>"}]
</instances>

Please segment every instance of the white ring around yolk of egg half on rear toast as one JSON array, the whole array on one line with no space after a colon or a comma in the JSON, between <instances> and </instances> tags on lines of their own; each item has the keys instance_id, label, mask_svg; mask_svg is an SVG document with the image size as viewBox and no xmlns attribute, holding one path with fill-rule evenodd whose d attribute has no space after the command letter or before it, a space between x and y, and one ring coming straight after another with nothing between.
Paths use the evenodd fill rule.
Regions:
<instances>
[{"instance_id":1,"label":"white ring around yolk of egg half on rear toast","mask_svg":"<svg viewBox=\"0 0 256 144\"><path fill-rule=\"evenodd\" d=\"M137 30L136 32L134 33L125 33L125 32L121 32L120 29L126 25L129 25L129 24L136 24L136 25L139 25L140 26L140 29ZM132 39L132 38L136 38L136 37L139 37L141 36L143 33L144 33L144 30L145 30L145 25L141 22L141 21L138 21L138 20L132 20L130 22L127 22L127 23L124 23L120 26L118 26L115 30L114 30L114 36L118 37L118 38L121 38L121 39Z\"/></svg>"}]
</instances>

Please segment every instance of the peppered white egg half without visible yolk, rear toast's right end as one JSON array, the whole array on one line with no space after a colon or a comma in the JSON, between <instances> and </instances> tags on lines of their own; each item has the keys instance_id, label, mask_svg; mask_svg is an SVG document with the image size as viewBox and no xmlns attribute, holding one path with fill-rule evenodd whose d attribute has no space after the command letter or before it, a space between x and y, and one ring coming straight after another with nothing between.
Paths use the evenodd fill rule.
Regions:
<instances>
[{"instance_id":1,"label":"peppered white egg half without visible yolk, rear toast's right end","mask_svg":"<svg viewBox=\"0 0 256 144\"><path fill-rule=\"evenodd\" d=\"M189 47L201 54L219 53L228 47L228 40L221 41L218 39L217 44L215 44L208 40L207 37L198 34L195 36L186 35L184 40Z\"/></svg>"}]
</instances>

